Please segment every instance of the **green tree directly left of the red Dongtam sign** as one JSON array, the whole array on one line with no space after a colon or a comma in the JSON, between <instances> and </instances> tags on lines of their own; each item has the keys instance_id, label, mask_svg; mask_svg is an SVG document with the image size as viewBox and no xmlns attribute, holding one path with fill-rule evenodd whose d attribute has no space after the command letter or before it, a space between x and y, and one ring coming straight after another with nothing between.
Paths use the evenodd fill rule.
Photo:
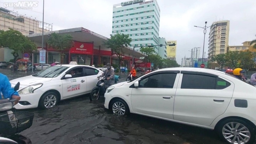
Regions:
<instances>
[{"instance_id":1,"label":"green tree directly left of the red Dongtam sign","mask_svg":"<svg viewBox=\"0 0 256 144\"><path fill-rule=\"evenodd\" d=\"M48 46L60 51L62 54L62 63L63 63L63 50L70 49L74 47L74 41L73 41L73 36L70 34L57 34L57 33L52 33L50 34L50 38L47 40Z\"/></svg>"}]
</instances>

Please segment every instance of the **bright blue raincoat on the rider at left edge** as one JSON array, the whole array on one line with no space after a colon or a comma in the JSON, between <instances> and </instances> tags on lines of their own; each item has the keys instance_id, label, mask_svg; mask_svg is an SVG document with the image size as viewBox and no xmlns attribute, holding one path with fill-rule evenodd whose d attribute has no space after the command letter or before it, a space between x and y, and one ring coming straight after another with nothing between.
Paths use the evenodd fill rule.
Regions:
<instances>
[{"instance_id":1,"label":"bright blue raincoat on the rider at left edge","mask_svg":"<svg viewBox=\"0 0 256 144\"><path fill-rule=\"evenodd\" d=\"M6 75L0 73L0 93L2 92L3 98L10 98L13 95L18 96L18 92L14 92L14 89L11 88L11 83ZM0 96L0 99L2 96Z\"/></svg>"}]
</instances>

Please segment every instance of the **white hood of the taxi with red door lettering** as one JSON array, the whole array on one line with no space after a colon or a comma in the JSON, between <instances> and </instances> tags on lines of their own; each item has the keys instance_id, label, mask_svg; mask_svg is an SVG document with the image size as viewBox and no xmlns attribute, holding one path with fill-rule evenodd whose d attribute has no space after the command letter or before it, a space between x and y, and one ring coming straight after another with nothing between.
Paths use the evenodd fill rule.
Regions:
<instances>
[{"instance_id":1,"label":"white hood of the taxi with red door lettering","mask_svg":"<svg viewBox=\"0 0 256 144\"><path fill-rule=\"evenodd\" d=\"M34 77L34 76L30 75L30 76L25 76L22 78L11 80L10 83L12 85L16 85L18 82L20 82L20 85L30 86L30 85L34 85L34 84L38 84L38 83L47 82L50 80L52 80L52 78L38 78L38 77Z\"/></svg>"}]
</instances>

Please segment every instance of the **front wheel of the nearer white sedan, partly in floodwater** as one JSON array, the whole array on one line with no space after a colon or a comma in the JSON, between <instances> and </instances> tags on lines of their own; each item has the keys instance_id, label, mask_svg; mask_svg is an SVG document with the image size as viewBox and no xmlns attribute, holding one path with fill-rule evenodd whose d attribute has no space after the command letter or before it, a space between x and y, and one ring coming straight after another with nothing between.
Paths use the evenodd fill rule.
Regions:
<instances>
[{"instance_id":1,"label":"front wheel of the nearer white sedan, partly in floodwater","mask_svg":"<svg viewBox=\"0 0 256 144\"><path fill-rule=\"evenodd\" d=\"M118 116L125 116L130 113L129 107L123 100L116 99L111 103L111 106L113 113L117 114Z\"/></svg>"}]
</instances>

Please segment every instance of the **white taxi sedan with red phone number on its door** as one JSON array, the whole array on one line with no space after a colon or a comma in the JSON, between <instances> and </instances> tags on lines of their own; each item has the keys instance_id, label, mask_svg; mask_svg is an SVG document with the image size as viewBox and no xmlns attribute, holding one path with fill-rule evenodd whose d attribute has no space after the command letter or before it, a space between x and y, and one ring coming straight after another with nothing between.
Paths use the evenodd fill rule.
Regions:
<instances>
[{"instance_id":1,"label":"white taxi sedan with red phone number on its door","mask_svg":"<svg viewBox=\"0 0 256 144\"><path fill-rule=\"evenodd\" d=\"M14 87L20 82L21 100L16 109L51 108L60 100L88 94L103 72L86 65L55 65L37 74L11 80Z\"/></svg>"}]
</instances>

